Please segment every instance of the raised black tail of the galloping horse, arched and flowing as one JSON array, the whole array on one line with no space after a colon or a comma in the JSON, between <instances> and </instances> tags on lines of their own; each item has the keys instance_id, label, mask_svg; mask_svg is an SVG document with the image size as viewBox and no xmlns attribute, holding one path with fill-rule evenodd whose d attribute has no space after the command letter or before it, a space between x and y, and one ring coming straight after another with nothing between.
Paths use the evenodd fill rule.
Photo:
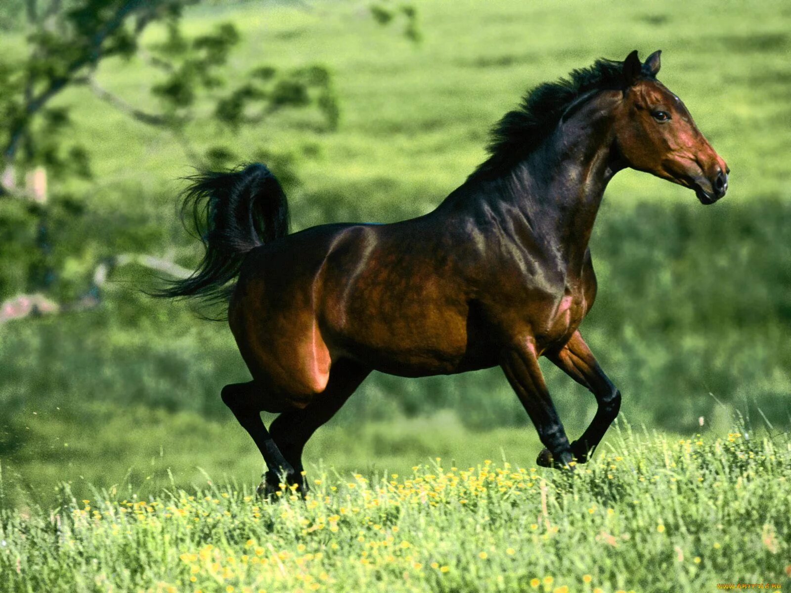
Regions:
<instances>
[{"instance_id":1,"label":"raised black tail of the galloping horse, arched and flowing","mask_svg":"<svg viewBox=\"0 0 791 593\"><path fill-rule=\"evenodd\" d=\"M226 300L244 254L288 234L286 194L266 165L257 163L187 179L193 183L184 191L182 217L191 211L206 253L189 278L170 281L154 296Z\"/></svg>"}]
</instances>

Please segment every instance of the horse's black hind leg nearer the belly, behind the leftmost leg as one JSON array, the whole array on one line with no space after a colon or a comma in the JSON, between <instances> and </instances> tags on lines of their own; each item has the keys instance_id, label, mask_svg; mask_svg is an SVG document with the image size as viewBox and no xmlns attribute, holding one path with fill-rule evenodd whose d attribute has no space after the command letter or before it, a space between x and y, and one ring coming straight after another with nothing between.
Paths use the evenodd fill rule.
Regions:
<instances>
[{"instance_id":1,"label":"horse's black hind leg nearer the belly, behind the leftmost leg","mask_svg":"<svg viewBox=\"0 0 791 593\"><path fill-rule=\"evenodd\" d=\"M284 412L274 419L270 432L274 442L293 466L297 484L303 493L308 489L301 475L302 450L321 425L340 410L354 390L368 376L370 369L347 360L336 361L330 370L327 387L302 410Z\"/></svg>"}]
</instances>

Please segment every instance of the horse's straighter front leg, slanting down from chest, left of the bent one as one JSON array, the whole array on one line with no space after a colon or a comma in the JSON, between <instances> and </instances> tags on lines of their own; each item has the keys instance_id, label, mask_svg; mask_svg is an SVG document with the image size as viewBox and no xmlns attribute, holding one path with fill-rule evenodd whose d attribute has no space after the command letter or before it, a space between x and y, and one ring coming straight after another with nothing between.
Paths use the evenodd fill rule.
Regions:
<instances>
[{"instance_id":1,"label":"horse's straighter front leg, slanting down from chest, left of the bent one","mask_svg":"<svg viewBox=\"0 0 791 593\"><path fill-rule=\"evenodd\" d=\"M517 392L524 410L536 426L539 439L546 447L545 451L550 453L539 455L536 463L545 467L573 469L569 465L572 461L569 440L544 383L536 356L536 344L532 338L505 349L501 357L501 367L513 391Z\"/></svg>"}]
</instances>

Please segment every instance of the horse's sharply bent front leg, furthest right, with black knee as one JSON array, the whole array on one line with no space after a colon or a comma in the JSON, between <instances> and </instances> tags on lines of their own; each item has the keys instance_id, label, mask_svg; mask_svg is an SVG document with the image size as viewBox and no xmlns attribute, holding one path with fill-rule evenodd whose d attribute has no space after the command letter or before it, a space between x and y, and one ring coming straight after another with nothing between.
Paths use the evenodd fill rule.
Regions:
<instances>
[{"instance_id":1,"label":"horse's sharply bent front leg, furthest right, with black knee","mask_svg":"<svg viewBox=\"0 0 791 593\"><path fill-rule=\"evenodd\" d=\"M574 457L579 463L585 463L618 416L621 394L601 370L579 331L574 332L566 346L557 353L547 354L547 358L577 383L587 387L599 404L589 427L571 444Z\"/></svg>"}]
</instances>

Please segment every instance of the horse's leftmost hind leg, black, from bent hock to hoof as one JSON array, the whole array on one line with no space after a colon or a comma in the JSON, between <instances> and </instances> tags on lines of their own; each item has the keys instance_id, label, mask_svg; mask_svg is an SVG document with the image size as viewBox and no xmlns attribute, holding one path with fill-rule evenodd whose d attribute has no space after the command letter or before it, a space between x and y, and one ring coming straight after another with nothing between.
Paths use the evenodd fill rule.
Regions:
<instances>
[{"instance_id":1,"label":"horse's leftmost hind leg, black, from bent hock to hoof","mask_svg":"<svg viewBox=\"0 0 791 593\"><path fill-rule=\"evenodd\" d=\"M267 474L278 476L285 474L293 476L293 466L283 457L274 444L267 428L261 421L261 410L252 402L260 402L260 387L253 381L250 383L232 383L225 385L221 392L222 401L228 406L233 415L237 417L239 424L252 436L255 445L263 455L263 461L267 464ZM276 478L275 478L276 479ZM275 486L278 482L275 482ZM259 485L259 494L263 493L263 482Z\"/></svg>"}]
</instances>

